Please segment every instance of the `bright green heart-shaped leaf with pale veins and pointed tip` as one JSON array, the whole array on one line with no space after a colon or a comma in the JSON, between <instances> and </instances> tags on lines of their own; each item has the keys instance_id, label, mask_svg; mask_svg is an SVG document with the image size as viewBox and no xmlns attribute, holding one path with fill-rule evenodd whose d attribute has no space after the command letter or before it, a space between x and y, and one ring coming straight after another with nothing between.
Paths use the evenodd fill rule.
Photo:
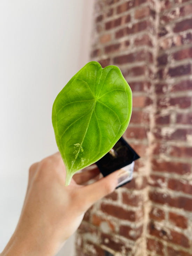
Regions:
<instances>
[{"instance_id":1,"label":"bright green heart-shaped leaf with pale veins and pointed tip","mask_svg":"<svg viewBox=\"0 0 192 256\"><path fill-rule=\"evenodd\" d=\"M87 63L57 95L52 124L66 166L74 173L95 163L116 144L131 118L132 92L116 66Z\"/></svg>"}]
</instances>

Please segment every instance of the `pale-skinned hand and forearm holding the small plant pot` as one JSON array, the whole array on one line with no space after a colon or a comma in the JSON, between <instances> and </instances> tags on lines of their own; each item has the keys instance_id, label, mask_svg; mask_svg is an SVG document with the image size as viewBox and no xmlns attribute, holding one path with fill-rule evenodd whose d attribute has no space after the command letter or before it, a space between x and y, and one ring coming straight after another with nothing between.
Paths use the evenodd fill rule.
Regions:
<instances>
[{"instance_id":1,"label":"pale-skinned hand and forearm holding the small plant pot","mask_svg":"<svg viewBox=\"0 0 192 256\"><path fill-rule=\"evenodd\" d=\"M19 222L0 256L56 255L84 213L114 191L124 173L118 170L98 179L95 168L75 174L65 186L66 169L59 152L32 164ZM92 178L97 181L86 185Z\"/></svg>"}]
</instances>

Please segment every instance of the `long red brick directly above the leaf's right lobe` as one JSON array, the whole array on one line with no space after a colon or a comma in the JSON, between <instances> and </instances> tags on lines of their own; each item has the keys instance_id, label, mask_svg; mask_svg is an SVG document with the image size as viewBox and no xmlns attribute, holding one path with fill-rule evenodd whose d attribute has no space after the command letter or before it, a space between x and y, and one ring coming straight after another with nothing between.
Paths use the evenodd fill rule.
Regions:
<instances>
[{"instance_id":1,"label":"long red brick directly above the leaf's right lobe","mask_svg":"<svg viewBox=\"0 0 192 256\"><path fill-rule=\"evenodd\" d=\"M146 59L146 52L145 51L139 51L139 52L133 52L126 55L121 55L113 58L114 64L126 64L126 63L132 63L135 61L142 61Z\"/></svg>"}]
</instances>

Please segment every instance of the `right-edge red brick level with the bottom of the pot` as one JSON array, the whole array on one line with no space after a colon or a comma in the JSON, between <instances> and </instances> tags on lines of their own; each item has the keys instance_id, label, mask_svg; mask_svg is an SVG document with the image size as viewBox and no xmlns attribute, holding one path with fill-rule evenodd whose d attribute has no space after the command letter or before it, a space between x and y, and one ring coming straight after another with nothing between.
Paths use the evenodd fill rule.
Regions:
<instances>
[{"instance_id":1,"label":"right-edge red brick level with the bottom of the pot","mask_svg":"<svg viewBox=\"0 0 192 256\"><path fill-rule=\"evenodd\" d=\"M188 181L170 179L168 181L168 188L174 191L182 191L184 193L192 195L192 185L189 184Z\"/></svg>"}]
</instances>

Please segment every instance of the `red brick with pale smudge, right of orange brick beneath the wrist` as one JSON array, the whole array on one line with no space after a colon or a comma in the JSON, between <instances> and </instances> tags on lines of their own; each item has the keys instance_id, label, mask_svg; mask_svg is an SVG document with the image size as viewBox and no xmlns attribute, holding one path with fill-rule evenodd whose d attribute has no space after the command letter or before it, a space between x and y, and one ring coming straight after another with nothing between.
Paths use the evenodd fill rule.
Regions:
<instances>
[{"instance_id":1,"label":"red brick with pale smudge, right of orange brick beneath the wrist","mask_svg":"<svg viewBox=\"0 0 192 256\"><path fill-rule=\"evenodd\" d=\"M131 240L137 240L139 237L141 237L143 233L143 226L140 226L138 228L131 228L129 226L120 226L119 228L119 234L127 237Z\"/></svg>"}]
</instances>

